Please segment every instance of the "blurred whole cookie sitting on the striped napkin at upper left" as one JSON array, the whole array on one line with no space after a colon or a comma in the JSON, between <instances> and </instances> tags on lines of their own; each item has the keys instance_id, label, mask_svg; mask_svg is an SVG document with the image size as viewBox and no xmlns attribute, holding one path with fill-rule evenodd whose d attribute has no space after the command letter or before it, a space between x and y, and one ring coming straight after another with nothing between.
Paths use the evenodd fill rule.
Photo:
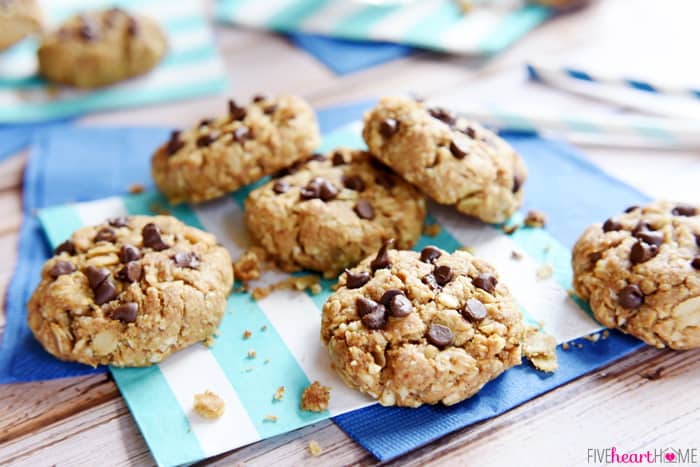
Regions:
<instances>
[{"instance_id":1,"label":"blurred whole cookie sitting on the striped napkin at upper left","mask_svg":"<svg viewBox=\"0 0 700 467\"><path fill-rule=\"evenodd\" d=\"M165 34L152 19L119 8L92 11L44 37L39 73L54 83L96 88L148 72L166 50Z\"/></svg>"}]
</instances>

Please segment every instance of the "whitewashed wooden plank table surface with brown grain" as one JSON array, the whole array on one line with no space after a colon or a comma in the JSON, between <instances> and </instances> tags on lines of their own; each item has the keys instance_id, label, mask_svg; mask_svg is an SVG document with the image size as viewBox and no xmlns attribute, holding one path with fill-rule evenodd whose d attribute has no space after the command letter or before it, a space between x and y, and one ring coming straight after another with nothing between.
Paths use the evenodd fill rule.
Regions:
<instances>
[{"instance_id":1,"label":"whitewashed wooden plank table surface with brown grain","mask_svg":"<svg viewBox=\"0 0 700 467\"><path fill-rule=\"evenodd\" d=\"M613 34L625 14L643 31L663 37L674 24L656 23L673 3L676 17L700 15L695 0L603 0L585 12L554 20L495 59L467 60L417 53L369 70L336 76L284 39L254 31L217 28L217 40L231 76L234 97L291 92L315 106L327 106L396 92L431 97L452 91L471 98L542 93L527 84L523 62L550 53L580 50L591 37ZM632 18L632 19L630 19ZM626 30L626 29L625 29ZM677 32L677 31L674 31ZM622 37L622 35L620 36ZM689 60L697 59L687 44ZM681 44L678 44L680 47ZM627 57L649 60L643 51ZM681 54L681 49L674 49ZM601 50L604 54L605 51ZM477 92L478 90L478 92ZM486 90L486 91L484 91ZM485 93L485 94L484 94ZM579 109L574 98L552 98ZM554 104L553 104L554 105ZM592 103L590 105L593 105ZM221 111L224 97L93 115L87 124L183 126ZM656 197L698 201L698 153L583 148L599 165ZM21 214L25 154L0 163L0 296L14 270ZM125 187L126 188L126 187ZM4 305L2 306L4 310ZM0 315L0 333L4 316ZM643 375L660 372L660 378ZM585 465L589 448L639 451L669 446L700 448L700 350L643 349L585 375L499 417L446 436L396 460L424 465ZM319 442L320 457L307 451ZM374 464L374 458L333 422L316 425L229 452L207 465ZM108 375L0 386L0 464L150 465L138 428Z\"/></svg>"}]
</instances>

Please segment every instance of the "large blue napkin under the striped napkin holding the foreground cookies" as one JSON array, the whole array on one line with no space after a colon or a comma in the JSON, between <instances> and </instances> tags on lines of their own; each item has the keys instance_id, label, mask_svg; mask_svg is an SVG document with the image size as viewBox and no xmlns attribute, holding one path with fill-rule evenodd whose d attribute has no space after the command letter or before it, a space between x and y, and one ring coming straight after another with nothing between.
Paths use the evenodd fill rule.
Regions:
<instances>
[{"instance_id":1,"label":"large blue napkin under the striped napkin holding the foreground cookies","mask_svg":"<svg viewBox=\"0 0 700 467\"><path fill-rule=\"evenodd\" d=\"M373 101L321 110L324 132L357 120ZM151 186L150 154L168 134L162 128L50 128L33 145L24 179L25 220L17 269L7 299L0 346L0 383L32 381L104 371L59 362L44 352L27 329L25 304L49 248L33 212L36 208L123 194L132 183ZM605 175L576 151L533 135L506 135L525 158L530 178L525 208L547 213L548 229L567 246L591 222L647 201L637 190ZM583 349L559 350L560 369L547 375L523 365L489 383L478 395L453 407L420 409L369 407L335 418L358 444L382 461L423 446L447 433L492 417L640 348L612 332Z\"/></svg>"}]
</instances>

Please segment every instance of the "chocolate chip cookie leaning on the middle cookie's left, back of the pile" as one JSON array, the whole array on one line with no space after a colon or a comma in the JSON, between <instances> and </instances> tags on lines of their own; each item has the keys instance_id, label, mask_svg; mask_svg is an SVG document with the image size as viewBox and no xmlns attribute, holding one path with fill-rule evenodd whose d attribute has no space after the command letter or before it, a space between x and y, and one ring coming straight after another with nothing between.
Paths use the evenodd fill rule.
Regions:
<instances>
[{"instance_id":1,"label":"chocolate chip cookie leaning on the middle cookie's left, back of the pile","mask_svg":"<svg viewBox=\"0 0 700 467\"><path fill-rule=\"evenodd\" d=\"M207 201L305 160L319 143L316 116L303 99L230 100L226 115L172 133L153 156L153 178L173 203Z\"/></svg>"}]
</instances>

